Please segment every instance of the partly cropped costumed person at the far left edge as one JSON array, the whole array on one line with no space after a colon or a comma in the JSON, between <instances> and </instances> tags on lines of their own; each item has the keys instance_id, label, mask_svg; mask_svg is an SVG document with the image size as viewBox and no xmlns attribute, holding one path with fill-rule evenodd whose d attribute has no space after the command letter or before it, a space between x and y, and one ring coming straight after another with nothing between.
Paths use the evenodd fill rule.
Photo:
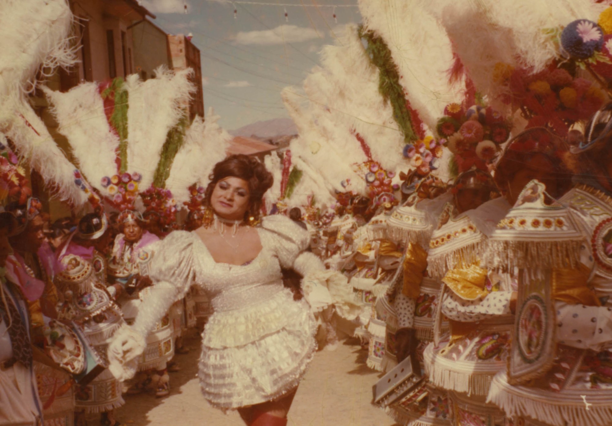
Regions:
<instances>
[{"instance_id":1,"label":"partly cropped costumed person at the far left edge","mask_svg":"<svg viewBox=\"0 0 612 426\"><path fill-rule=\"evenodd\" d=\"M17 220L8 212L0 213L0 424L37 426L43 409L34 373L28 299L18 277L6 269L13 252L8 237L15 228Z\"/></svg>"}]
</instances>

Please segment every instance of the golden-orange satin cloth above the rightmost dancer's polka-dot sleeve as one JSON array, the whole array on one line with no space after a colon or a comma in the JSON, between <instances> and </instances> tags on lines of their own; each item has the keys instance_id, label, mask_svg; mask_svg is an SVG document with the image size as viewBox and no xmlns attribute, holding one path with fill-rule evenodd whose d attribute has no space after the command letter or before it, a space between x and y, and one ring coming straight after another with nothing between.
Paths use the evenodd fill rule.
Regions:
<instances>
[{"instance_id":1,"label":"golden-orange satin cloth above the rightmost dancer's polka-dot sleeve","mask_svg":"<svg viewBox=\"0 0 612 426\"><path fill-rule=\"evenodd\" d=\"M595 291L586 285L590 274L589 268L582 263L571 269L554 269L552 276L553 299L569 304L601 306Z\"/></svg>"}]
</instances>

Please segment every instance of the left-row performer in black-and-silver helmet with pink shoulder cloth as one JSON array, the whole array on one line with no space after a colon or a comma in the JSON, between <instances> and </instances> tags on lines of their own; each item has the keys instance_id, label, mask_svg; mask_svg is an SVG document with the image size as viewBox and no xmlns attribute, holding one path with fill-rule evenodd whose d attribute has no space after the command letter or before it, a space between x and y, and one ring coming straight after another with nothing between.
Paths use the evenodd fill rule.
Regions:
<instances>
[{"instance_id":1,"label":"left-row performer in black-and-silver helmet with pink shoulder cloth","mask_svg":"<svg viewBox=\"0 0 612 426\"><path fill-rule=\"evenodd\" d=\"M121 308L114 302L116 286L106 286L106 259L95 250L95 243L108 228L101 208L86 214L75 232L58 248L59 272L56 285L63 302L58 307L59 319L74 321L84 332L100 359L106 359L106 341L124 324ZM116 426L114 409L124 405L122 384L103 370L90 383L76 385L77 424L84 416L100 413L102 424Z\"/></svg>"}]
</instances>

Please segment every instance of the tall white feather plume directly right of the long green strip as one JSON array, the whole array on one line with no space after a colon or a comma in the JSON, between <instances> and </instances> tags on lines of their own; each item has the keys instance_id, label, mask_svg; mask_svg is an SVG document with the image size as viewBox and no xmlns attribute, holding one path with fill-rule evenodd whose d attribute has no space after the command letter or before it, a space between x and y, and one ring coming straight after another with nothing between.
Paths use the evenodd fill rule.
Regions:
<instances>
[{"instance_id":1,"label":"tall white feather plume directly right of the long green strip","mask_svg":"<svg viewBox=\"0 0 612 426\"><path fill-rule=\"evenodd\" d=\"M366 29L375 31L387 43L412 108L433 129L447 104L461 102L463 85L449 84L452 47L444 28L428 13L430 3L359 0L359 10Z\"/></svg>"}]
</instances>

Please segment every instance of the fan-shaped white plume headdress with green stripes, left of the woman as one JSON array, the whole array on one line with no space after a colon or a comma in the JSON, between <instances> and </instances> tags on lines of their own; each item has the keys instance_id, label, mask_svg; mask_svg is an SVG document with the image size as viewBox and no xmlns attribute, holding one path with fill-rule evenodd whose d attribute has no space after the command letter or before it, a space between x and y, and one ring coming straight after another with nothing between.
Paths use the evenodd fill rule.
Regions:
<instances>
[{"instance_id":1,"label":"fan-shaped white plume headdress with green stripes, left of the woman","mask_svg":"<svg viewBox=\"0 0 612 426\"><path fill-rule=\"evenodd\" d=\"M231 137L217 116L188 125L191 73L160 67L146 81L130 75L111 84L82 83L65 93L45 90L81 171L114 207L163 213L142 195L157 191L174 212L189 200L188 187L205 184L212 166L225 157Z\"/></svg>"}]
</instances>

